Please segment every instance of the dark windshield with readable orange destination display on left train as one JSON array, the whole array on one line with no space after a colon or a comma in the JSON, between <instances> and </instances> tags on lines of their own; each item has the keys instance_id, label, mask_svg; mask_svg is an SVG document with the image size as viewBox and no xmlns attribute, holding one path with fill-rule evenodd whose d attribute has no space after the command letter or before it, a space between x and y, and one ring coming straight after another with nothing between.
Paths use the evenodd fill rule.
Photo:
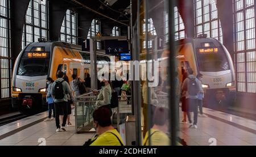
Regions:
<instances>
[{"instance_id":1,"label":"dark windshield with readable orange destination display on left train","mask_svg":"<svg viewBox=\"0 0 256 157\"><path fill-rule=\"evenodd\" d=\"M24 52L18 65L17 75L27 77L48 74L49 52Z\"/></svg>"}]
</instances>

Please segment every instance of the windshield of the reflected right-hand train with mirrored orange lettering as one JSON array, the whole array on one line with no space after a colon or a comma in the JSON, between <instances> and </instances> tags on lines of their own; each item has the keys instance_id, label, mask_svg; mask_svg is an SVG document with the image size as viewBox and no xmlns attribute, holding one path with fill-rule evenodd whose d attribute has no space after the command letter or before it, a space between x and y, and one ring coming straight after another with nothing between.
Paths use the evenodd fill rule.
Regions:
<instances>
[{"instance_id":1,"label":"windshield of the reflected right-hand train with mirrored orange lettering","mask_svg":"<svg viewBox=\"0 0 256 157\"><path fill-rule=\"evenodd\" d=\"M196 49L200 71L217 72L230 70L228 56L222 47Z\"/></svg>"}]
</instances>

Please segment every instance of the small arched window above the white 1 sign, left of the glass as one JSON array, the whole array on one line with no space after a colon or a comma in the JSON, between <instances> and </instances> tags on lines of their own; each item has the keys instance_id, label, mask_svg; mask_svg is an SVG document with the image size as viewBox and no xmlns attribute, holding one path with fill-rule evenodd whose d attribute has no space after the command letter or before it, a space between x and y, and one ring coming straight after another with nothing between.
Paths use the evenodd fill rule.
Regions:
<instances>
[{"instance_id":1,"label":"small arched window above the white 1 sign, left of the glass","mask_svg":"<svg viewBox=\"0 0 256 157\"><path fill-rule=\"evenodd\" d=\"M93 19L92 23L90 24L87 39L90 39L90 37L96 36L98 32L101 32L101 22L100 22L100 20ZM97 49L98 50L101 49L100 41L97 41Z\"/></svg>"}]
</instances>

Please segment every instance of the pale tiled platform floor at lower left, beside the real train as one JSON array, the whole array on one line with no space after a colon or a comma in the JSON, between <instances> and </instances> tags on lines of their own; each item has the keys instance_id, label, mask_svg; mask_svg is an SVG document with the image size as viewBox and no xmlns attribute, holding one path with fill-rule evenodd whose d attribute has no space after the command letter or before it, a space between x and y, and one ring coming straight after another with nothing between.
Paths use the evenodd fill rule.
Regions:
<instances>
[{"instance_id":1,"label":"pale tiled platform floor at lower left, beside the real train","mask_svg":"<svg viewBox=\"0 0 256 157\"><path fill-rule=\"evenodd\" d=\"M72 124L75 124L75 117L71 116ZM42 145L40 138L45 139L46 146L81 146L94 133L76 134L75 125L66 127L67 131L56 133L55 121L42 121L0 140L0 145L15 146L36 146ZM41 144L42 143L42 144Z\"/></svg>"}]
</instances>

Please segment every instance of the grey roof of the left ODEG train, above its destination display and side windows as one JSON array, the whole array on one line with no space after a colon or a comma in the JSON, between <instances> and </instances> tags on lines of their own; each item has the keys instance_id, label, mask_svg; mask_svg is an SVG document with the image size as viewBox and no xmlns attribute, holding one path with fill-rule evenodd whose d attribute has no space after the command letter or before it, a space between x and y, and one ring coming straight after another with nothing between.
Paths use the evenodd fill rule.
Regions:
<instances>
[{"instance_id":1,"label":"grey roof of the left ODEG train, above its destination display and side windows","mask_svg":"<svg viewBox=\"0 0 256 157\"><path fill-rule=\"evenodd\" d=\"M44 47L44 51L50 52L54 46L61 46L64 48L77 49L77 50L82 49L80 45L65 43L63 41L42 41L42 42L35 42L35 43L28 44L26 48L24 48L24 51L27 51L27 52L31 51L33 47Z\"/></svg>"}]
</instances>

